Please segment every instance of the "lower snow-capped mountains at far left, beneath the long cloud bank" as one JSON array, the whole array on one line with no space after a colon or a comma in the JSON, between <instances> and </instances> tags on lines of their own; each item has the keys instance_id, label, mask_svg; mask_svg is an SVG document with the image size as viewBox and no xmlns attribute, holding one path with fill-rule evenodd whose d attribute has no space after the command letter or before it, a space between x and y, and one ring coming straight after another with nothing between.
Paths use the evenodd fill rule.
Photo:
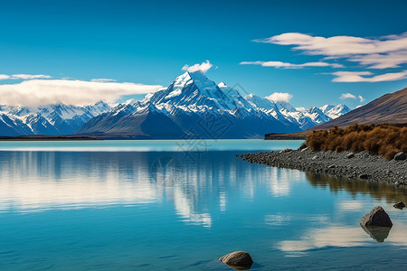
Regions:
<instances>
[{"instance_id":1,"label":"lower snow-capped mountains at far left, beneath the long cloud bank","mask_svg":"<svg viewBox=\"0 0 407 271\"><path fill-rule=\"evenodd\" d=\"M35 109L0 106L0 135L71 135L91 118L109 109L102 101L85 107L63 104Z\"/></svg>"}]
</instances>

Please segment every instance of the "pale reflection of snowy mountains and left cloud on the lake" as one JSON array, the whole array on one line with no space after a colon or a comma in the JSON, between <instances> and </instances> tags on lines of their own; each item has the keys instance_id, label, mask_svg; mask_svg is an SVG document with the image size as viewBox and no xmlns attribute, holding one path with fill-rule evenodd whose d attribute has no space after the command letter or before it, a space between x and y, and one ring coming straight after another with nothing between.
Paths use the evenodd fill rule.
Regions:
<instances>
[{"instance_id":1,"label":"pale reflection of snowy mountains and left cloud on the lake","mask_svg":"<svg viewBox=\"0 0 407 271\"><path fill-rule=\"evenodd\" d=\"M233 193L251 201L264 186L289 196L304 179L298 171L241 164L235 152L209 152L198 164L182 153L0 152L0 211L165 201L185 222L211 227L213 204L228 210Z\"/></svg>"}]
</instances>

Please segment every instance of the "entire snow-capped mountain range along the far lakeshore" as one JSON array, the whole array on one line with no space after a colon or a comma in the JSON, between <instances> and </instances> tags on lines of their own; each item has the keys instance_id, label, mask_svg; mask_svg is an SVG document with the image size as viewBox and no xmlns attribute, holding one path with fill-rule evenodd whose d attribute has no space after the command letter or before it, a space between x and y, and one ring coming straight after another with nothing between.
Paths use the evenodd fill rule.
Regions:
<instances>
[{"instance_id":1,"label":"entire snow-capped mountain range along the far lakeshore","mask_svg":"<svg viewBox=\"0 0 407 271\"><path fill-rule=\"evenodd\" d=\"M345 105L293 107L253 94L244 97L200 70L186 71L166 89L114 106L0 106L0 135L92 135L130 138L263 138L292 133L349 112Z\"/></svg>"}]
</instances>

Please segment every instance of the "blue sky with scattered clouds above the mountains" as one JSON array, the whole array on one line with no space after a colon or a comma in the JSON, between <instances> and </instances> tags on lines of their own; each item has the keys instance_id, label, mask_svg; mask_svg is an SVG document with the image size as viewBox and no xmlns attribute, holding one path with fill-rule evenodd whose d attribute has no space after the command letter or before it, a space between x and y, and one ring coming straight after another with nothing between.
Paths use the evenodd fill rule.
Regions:
<instances>
[{"instance_id":1,"label":"blue sky with scattered clouds above the mountains","mask_svg":"<svg viewBox=\"0 0 407 271\"><path fill-rule=\"evenodd\" d=\"M128 97L210 61L208 78L261 97L356 107L407 87L406 10L406 1L2 1L0 92Z\"/></svg>"}]
</instances>

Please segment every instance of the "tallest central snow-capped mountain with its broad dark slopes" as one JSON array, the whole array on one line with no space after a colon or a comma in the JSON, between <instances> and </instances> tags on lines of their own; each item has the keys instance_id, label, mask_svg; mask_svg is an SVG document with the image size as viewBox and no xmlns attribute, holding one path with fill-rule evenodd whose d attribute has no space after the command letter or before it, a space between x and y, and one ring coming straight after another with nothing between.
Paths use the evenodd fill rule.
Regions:
<instances>
[{"instance_id":1,"label":"tallest central snow-capped mountain with its broad dark slopes","mask_svg":"<svg viewBox=\"0 0 407 271\"><path fill-rule=\"evenodd\" d=\"M341 114L340 110L335 112ZM130 100L111 108L77 133L142 138L262 138L267 133L305 130L331 119L318 107L301 112L288 102L253 94L242 97L238 90L223 82L216 84L198 70L186 71L168 88L140 101Z\"/></svg>"}]
</instances>

